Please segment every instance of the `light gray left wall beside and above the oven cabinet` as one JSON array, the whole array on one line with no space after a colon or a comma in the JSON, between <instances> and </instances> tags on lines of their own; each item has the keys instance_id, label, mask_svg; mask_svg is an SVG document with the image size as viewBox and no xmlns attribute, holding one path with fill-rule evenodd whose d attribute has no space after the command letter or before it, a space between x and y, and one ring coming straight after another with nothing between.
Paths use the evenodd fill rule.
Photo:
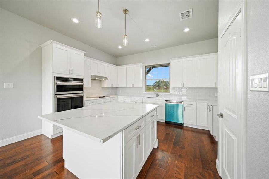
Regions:
<instances>
[{"instance_id":1,"label":"light gray left wall beside and above the oven cabinet","mask_svg":"<svg viewBox=\"0 0 269 179\"><path fill-rule=\"evenodd\" d=\"M41 129L42 49L48 40L86 51L111 64L116 58L0 8L0 140ZM4 82L13 88L4 88Z\"/></svg>"}]
</instances>

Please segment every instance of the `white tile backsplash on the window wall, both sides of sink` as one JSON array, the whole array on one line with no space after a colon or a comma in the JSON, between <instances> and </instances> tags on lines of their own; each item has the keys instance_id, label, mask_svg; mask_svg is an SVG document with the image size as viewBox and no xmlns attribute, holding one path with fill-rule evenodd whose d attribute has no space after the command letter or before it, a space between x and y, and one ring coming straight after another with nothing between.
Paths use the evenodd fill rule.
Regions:
<instances>
[{"instance_id":1,"label":"white tile backsplash on the window wall, both sides of sink","mask_svg":"<svg viewBox=\"0 0 269 179\"><path fill-rule=\"evenodd\" d=\"M144 88L117 88L117 95L133 95L133 96L148 96L152 93L145 93ZM138 92L139 91L139 92ZM215 92L218 92L217 88L172 88L171 94L160 93L163 97L177 96L182 98L192 99L207 99L217 100Z\"/></svg>"}]
</instances>

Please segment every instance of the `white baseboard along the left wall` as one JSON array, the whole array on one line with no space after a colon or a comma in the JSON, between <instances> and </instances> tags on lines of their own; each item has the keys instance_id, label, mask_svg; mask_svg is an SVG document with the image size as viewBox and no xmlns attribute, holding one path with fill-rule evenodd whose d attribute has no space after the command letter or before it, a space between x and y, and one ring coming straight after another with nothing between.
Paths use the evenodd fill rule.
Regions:
<instances>
[{"instance_id":1,"label":"white baseboard along the left wall","mask_svg":"<svg viewBox=\"0 0 269 179\"><path fill-rule=\"evenodd\" d=\"M15 143L15 142L18 142L18 141L22 141L24 139L34 137L34 136L40 135L40 134L42 134L42 129L38 129L38 130L35 130L35 131L32 131L32 132L27 132L25 134L21 134L21 135L17 135L17 136L14 136L14 137L7 138L7 139L3 139L3 140L0 141L0 147L8 145L8 144L11 144L11 143Z\"/></svg>"}]
</instances>

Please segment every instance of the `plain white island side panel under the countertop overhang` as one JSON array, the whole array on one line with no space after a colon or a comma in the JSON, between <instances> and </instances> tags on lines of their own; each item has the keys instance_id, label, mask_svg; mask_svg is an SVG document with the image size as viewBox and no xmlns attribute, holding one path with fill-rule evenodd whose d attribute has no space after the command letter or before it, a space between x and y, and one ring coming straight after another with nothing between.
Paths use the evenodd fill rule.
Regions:
<instances>
[{"instance_id":1,"label":"plain white island side panel under the countertop overhang","mask_svg":"<svg viewBox=\"0 0 269 179\"><path fill-rule=\"evenodd\" d=\"M79 178L122 178L122 132L105 143L63 129L64 166Z\"/></svg>"}]
</instances>

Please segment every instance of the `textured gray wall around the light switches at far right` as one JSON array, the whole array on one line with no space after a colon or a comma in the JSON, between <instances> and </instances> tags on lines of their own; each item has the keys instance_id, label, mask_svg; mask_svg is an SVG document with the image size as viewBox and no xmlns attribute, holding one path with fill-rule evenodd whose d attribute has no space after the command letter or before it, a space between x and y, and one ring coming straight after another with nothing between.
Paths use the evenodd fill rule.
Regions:
<instances>
[{"instance_id":1,"label":"textured gray wall around the light switches at far right","mask_svg":"<svg viewBox=\"0 0 269 179\"><path fill-rule=\"evenodd\" d=\"M269 92L249 90L250 76L269 71L269 1L247 1L247 178L269 176Z\"/></svg>"}]
</instances>

